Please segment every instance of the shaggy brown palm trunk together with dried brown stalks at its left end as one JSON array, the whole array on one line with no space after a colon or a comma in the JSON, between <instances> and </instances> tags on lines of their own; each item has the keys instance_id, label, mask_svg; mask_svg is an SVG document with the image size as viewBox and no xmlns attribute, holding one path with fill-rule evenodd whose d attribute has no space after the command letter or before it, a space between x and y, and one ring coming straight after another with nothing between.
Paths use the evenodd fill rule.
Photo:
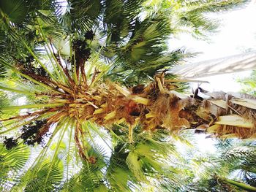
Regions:
<instances>
[{"instance_id":1,"label":"shaggy brown palm trunk together with dried brown stalks at its left end","mask_svg":"<svg viewBox=\"0 0 256 192\"><path fill-rule=\"evenodd\" d=\"M53 113L42 128L37 128L34 142L42 140L53 123L58 123L63 118L75 120L75 142L80 156L87 161L89 159L80 144L80 138L84 134L80 125L86 120L107 128L113 123L126 123L129 142L133 141L132 130L137 125L143 126L145 131L165 128L172 134L193 128L195 133L206 132L211 137L256 137L256 99L252 96L208 93L201 88L194 95L187 96L172 88L171 81L165 80L163 75L155 77L155 81L148 85L132 88L124 88L110 81L74 85L72 88L59 85L59 93L49 93L50 103L45 105L53 103L54 107L7 120L33 120L33 117L38 119L40 115ZM203 97L197 95L199 91L204 94Z\"/></svg>"}]
</instances>

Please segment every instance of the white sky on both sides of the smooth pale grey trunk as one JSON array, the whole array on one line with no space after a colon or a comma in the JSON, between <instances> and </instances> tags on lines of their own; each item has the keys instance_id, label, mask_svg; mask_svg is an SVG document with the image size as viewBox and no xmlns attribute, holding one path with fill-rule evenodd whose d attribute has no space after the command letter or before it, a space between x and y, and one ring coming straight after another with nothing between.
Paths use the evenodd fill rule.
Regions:
<instances>
[{"instance_id":1,"label":"white sky on both sides of the smooth pale grey trunk","mask_svg":"<svg viewBox=\"0 0 256 192\"><path fill-rule=\"evenodd\" d=\"M199 40L189 34L182 34L176 39L170 39L170 48L186 47L188 52L200 53L189 62L207 61L229 55L256 50L256 1L251 1L246 7L229 12L219 12L209 15L219 20L217 33L211 34L208 41ZM197 80L206 80L210 84L201 85L208 91L241 91L238 78L248 77L250 72L222 74L212 77L203 77ZM197 86L193 85L193 87Z\"/></svg>"}]
</instances>

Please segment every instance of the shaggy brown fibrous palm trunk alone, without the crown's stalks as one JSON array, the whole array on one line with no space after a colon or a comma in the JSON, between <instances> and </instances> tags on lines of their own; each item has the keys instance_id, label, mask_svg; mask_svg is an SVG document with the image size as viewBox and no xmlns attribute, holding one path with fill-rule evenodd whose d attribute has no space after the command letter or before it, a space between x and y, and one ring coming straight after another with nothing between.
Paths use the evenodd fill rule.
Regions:
<instances>
[{"instance_id":1,"label":"shaggy brown fibrous palm trunk alone, without the crown's stalks","mask_svg":"<svg viewBox=\"0 0 256 192\"><path fill-rule=\"evenodd\" d=\"M128 90L114 83L105 85L108 90L98 87L91 114L87 109L87 115L83 112L83 116L91 116L103 126L125 122L129 125L129 138L132 127L138 123L148 131L166 128L178 132L194 128L195 132L204 131L212 137L256 137L256 99L252 96L207 93L199 88L208 97L203 99L197 93L187 96L169 90L167 83L157 77L156 82L145 88L139 85Z\"/></svg>"}]
</instances>

